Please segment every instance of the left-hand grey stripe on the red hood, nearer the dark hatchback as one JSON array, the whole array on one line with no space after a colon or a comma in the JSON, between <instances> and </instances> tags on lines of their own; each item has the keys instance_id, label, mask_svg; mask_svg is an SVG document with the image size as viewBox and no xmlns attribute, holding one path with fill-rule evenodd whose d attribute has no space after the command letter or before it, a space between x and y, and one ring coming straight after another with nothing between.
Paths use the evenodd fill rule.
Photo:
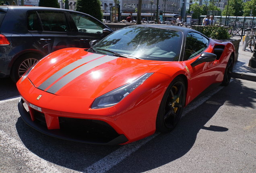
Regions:
<instances>
[{"instance_id":1,"label":"left-hand grey stripe on the red hood, nearer the dark hatchback","mask_svg":"<svg viewBox=\"0 0 256 173\"><path fill-rule=\"evenodd\" d=\"M54 83L56 80L58 80L60 77L62 77L67 72L70 72L74 68L85 64L86 62L89 62L91 60L94 60L95 58L99 58L103 56L102 54L92 54L89 56L85 56L84 58L81 58L79 60L76 60L75 62L72 62L71 64L65 66L64 68L60 69L58 72L53 74L50 78L47 78L41 85L39 85L38 89L45 90L47 89L52 83Z\"/></svg>"}]
</instances>

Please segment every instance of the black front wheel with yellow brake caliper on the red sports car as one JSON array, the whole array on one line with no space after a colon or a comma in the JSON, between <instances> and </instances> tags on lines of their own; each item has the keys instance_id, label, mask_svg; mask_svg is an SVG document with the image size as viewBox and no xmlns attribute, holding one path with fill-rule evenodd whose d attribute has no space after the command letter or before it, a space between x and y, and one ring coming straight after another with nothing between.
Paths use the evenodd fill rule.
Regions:
<instances>
[{"instance_id":1,"label":"black front wheel with yellow brake caliper on the red sports car","mask_svg":"<svg viewBox=\"0 0 256 173\"><path fill-rule=\"evenodd\" d=\"M156 120L156 129L167 133L174 129L182 115L186 100L186 87L184 80L175 78L163 96Z\"/></svg>"}]
</instances>

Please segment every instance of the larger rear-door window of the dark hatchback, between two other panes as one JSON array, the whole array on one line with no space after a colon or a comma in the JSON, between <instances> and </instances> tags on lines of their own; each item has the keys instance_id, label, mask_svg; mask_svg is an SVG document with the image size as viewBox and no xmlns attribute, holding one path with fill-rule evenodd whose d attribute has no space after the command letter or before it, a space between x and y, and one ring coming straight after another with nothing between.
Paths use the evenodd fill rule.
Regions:
<instances>
[{"instance_id":1,"label":"larger rear-door window of the dark hatchback, between two other panes","mask_svg":"<svg viewBox=\"0 0 256 173\"><path fill-rule=\"evenodd\" d=\"M37 11L45 31L68 32L68 22L64 12Z\"/></svg>"}]
</instances>

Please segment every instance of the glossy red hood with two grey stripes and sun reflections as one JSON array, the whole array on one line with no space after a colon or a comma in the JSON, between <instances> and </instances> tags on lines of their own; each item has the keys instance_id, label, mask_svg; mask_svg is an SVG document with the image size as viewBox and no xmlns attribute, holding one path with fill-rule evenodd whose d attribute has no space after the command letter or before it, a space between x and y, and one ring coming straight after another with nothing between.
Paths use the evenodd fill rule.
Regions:
<instances>
[{"instance_id":1,"label":"glossy red hood with two grey stripes and sun reflections","mask_svg":"<svg viewBox=\"0 0 256 173\"><path fill-rule=\"evenodd\" d=\"M38 89L55 95L96 98L162 63L66 48L43 58L28 78Z\"/></svg>"}]
</instances>

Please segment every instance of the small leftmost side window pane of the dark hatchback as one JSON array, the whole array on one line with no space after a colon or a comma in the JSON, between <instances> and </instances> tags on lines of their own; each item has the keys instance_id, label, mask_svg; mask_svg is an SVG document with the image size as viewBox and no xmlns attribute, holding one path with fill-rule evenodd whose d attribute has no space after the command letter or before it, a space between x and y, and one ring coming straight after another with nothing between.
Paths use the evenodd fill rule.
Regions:
<instances>
[{"instance_id":1,"label":"small leftmost side window pane of the dark hatchback","mask_svg":"<svg viewBox=\"0 0 256 173\"><path fill-rule=\"evenodd\" d=\"M28 30L43 30L40 24L40 20L35 11L30 11L27 14L27 29Z\"/></svg>"}]
</instances>

